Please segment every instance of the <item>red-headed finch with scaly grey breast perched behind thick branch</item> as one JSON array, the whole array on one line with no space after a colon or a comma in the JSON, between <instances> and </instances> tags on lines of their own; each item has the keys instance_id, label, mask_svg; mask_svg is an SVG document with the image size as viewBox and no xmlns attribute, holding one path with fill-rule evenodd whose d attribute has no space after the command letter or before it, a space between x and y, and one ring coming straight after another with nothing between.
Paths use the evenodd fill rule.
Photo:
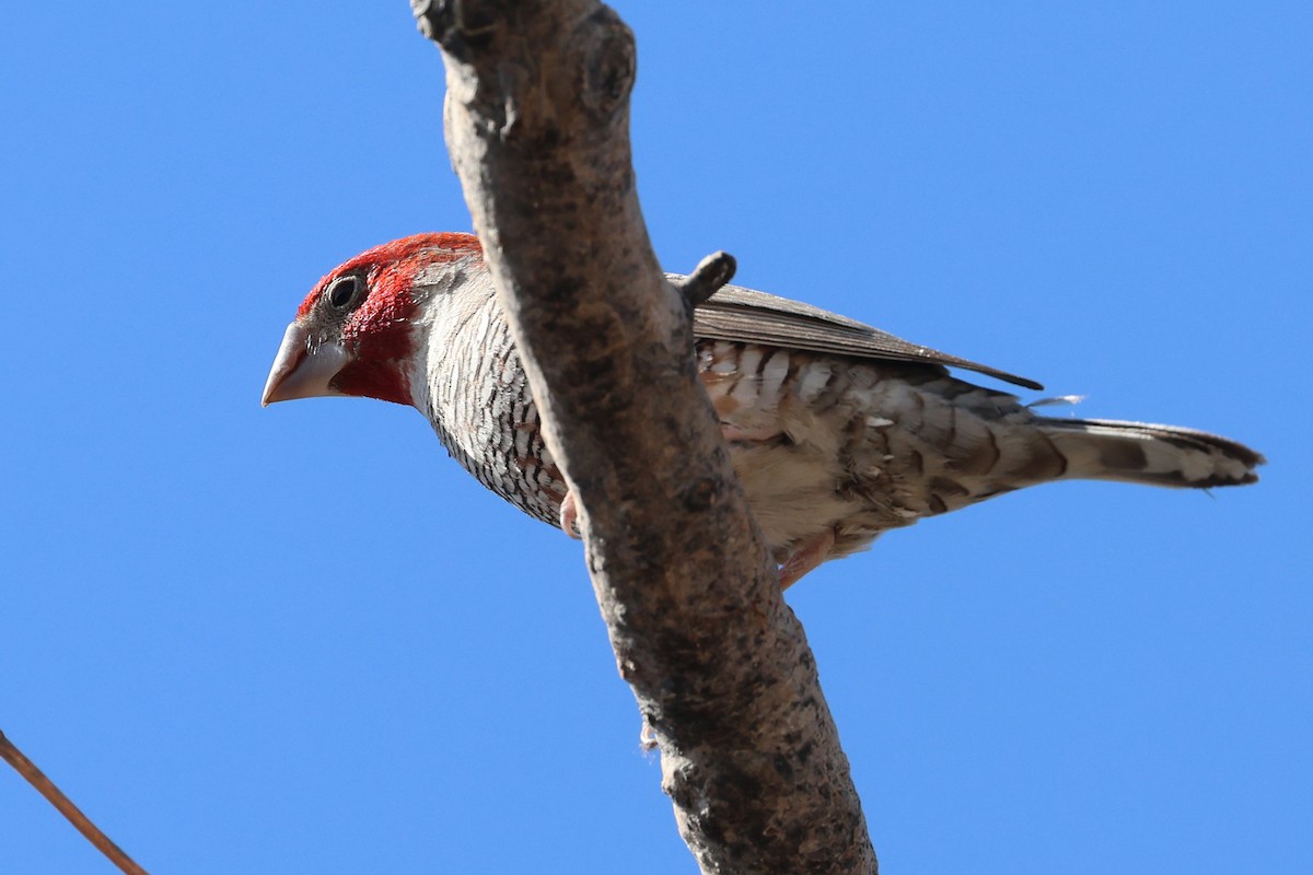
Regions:
<instances>
[{"instance_id":1,"label":"red-headed finch with scaly grey breast perched behind thick branch","mask_svg":"<svg viewBox=\"0 0 1313 875\"><path fill-rule=\"evenodd\" d=\"M678 281L676 274L668 274ZM786 298L723 286L693 310L697 373L781 586L882 533L1053 480L1213 488L1263 457L1170 425L1060 418L949 369L1043 386ZM263 404L361 396L423 413L450 455L578 535L478 237L419 234L326 274Z\"/></svg>"}]
</instances>

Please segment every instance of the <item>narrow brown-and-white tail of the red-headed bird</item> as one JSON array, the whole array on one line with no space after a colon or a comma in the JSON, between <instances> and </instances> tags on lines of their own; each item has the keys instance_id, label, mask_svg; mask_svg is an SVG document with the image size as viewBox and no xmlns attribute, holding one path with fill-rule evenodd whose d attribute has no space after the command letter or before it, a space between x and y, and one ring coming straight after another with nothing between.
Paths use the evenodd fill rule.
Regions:
<instances>
[{"instance_id":1,"label":"narrow brown-and-white tail of the red-headed bird","mask_svg":"<svg viewBox=\"0 0 1313 875\"><path fill-rule=\"evenodd\" d=\"M1243 443L1171 425L1057 418L1040 422L1067 459L1066 478L1205 489L1255 483L1254 468L1266 462Z\"/></svg>"}]
</instances>

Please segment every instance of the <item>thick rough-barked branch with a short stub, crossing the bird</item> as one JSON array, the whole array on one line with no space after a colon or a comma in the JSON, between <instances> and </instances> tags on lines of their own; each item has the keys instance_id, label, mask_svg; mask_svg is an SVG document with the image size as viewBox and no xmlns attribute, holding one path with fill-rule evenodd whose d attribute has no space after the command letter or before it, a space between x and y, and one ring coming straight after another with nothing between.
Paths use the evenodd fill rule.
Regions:
<instances>
[{"instance_id":1,"label":"thick rough-barked branch with a short stub, crossing the bird","mask_svg":"<svg viewBox=\"0 0 1313 875\"><path fill-rule=\"evenodd\" d=\"M643 226L632 31L596 0L412 8L442 49L452 163L680 833L704 872L876 872L815 660L695 370L688 299L733 261L676 290Z\"/></svg>"}]
</instances>

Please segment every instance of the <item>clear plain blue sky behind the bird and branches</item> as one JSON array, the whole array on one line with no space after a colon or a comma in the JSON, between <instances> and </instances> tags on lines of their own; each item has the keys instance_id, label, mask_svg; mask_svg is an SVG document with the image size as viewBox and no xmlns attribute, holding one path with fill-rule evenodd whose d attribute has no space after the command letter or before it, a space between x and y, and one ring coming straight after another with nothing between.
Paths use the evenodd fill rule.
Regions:
<instances>
[{"instance_id":1,"label":"clear plain blue sky behind the bird and branches","mask_svg":"<svg viewBox=\"0 0 1313 875\"><path fill-rule=\"evenodd\" d=\"M1313 7L617 3L658 254L1263 450L789 592L888 871L1308 872ZM582 548L414 411L261 409L469 230L406 3L7 13L0 728L152 871L692 872ZM0 773L0 870L106 865Z\"/></svg>"}]
</instances>

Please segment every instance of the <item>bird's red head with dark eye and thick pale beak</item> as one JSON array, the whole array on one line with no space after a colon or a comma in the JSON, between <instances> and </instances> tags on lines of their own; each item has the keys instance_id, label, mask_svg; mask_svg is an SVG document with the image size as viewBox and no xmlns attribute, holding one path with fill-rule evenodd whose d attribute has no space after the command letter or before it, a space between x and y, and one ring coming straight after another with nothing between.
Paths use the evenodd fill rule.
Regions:
<instances>
[{"instance_id":1,"label":"bird's red head with dark eye and thick pale beak","mask_svg":"<svg viewBox=\"0 0 1313 875\"><path fill-rule=\"evenodd\" d=\"M482 258L469 234L418 234L360 253L326 274L282 338L264 403L356 395L410 404L414 325L435 269Z\"/></svg>"}]
</instances>

